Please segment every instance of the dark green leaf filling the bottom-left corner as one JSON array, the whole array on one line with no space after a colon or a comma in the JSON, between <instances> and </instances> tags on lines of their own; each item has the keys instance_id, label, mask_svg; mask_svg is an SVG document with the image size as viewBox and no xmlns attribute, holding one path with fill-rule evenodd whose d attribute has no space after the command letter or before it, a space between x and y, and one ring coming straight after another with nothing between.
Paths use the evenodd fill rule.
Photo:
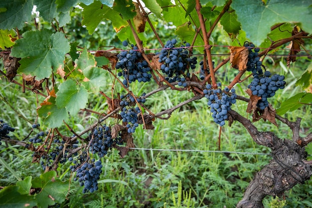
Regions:
<instances>
[{"instance_id":1,"label":"dark green leaf filling the bottom-left corner","mask_svg":"<svg viewBox=\"0 0 312 208\"><path fill-rule=\"evenodd\" d=\"M0 208L32 208L36 205L33 196L20 194L17 186L8 186L0 191Z\"/></svg>"}]
</instances>

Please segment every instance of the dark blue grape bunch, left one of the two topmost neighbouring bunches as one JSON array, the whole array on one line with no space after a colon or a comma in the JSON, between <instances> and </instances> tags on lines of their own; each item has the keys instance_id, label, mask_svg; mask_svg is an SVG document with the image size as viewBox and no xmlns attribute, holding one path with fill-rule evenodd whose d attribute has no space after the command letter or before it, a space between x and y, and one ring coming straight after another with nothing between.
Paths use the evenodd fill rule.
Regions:
<instances>
[{"instance_id":1,"label":"dark blue grape bunch, left one of the two topmost neighbouring bunches","mask_svg":"<svg viewBox=\"0 0 312 208\"><path fill-rule=\"evenodd\" d=\"M127 46L128 42L123 41L123 45ZM149 82L151 81L152 74L149 73L151 68L146 60L142 61L141 52L137 51L138 47L131 45L132 49L123 50L118 55L118 62L116 63L116 69L122 69L118 72L118 76L123 76L123 84L129 87L129 83L135 82Z\"/></svg>"}]
</instances>

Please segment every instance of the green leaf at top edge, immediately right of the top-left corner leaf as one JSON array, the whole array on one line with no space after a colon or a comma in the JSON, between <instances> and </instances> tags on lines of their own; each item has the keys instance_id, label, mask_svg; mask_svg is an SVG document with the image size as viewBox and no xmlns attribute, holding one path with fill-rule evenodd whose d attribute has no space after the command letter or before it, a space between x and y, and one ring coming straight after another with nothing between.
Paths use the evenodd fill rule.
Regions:
<instances>
[{"instance_id":1,"label":"green leaf at top edge, immediately right of the top-left corner leaf","mask_svg":"<svg viewBox=\"0 0 312 208\"><path fill-rule=\"evenodd\" d=\"M55 0L33 0L33 4L37 6L36 10L46 21L51 22L58 15Z\"/></svg>"}]
</instances>

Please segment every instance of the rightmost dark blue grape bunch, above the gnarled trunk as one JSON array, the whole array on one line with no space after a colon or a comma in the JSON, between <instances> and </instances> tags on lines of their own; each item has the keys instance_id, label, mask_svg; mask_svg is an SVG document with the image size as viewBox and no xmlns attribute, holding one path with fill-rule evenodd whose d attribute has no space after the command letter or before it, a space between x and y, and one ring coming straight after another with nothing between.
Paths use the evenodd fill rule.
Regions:
<instances>
[{"instance_id":1,"label":"rightmost dark blue grape bunch, above the gnarled trunk","mask_svg":"<svg viewBox=\"0 0 312 208\"><path fill-rule=\"evenodd\" d=\"M279 74L271 74L265 71L264 74L255 74L253 81L248 85L253 95L261 97L257 106L260 110L264 110L269 106L267 98L273 97L278 89L284 89L286 82L285 76Z\"/></svg>"}]
</instances>

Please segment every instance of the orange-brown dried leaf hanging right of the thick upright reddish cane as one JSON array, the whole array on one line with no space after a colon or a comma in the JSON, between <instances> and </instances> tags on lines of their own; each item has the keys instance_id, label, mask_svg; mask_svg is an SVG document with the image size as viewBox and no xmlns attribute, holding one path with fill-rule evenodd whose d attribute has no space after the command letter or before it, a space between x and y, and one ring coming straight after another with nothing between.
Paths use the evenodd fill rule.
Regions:
<instances>
[{"instance_id":1,"label":"orange-brown dried leaf hanging right of the thick upright reddish cane","mask_svg":"<svg viewBox=\"0 0 312 208\"><path fill-rule=\"evenodd\" d=\"M248 48L230 46L229 49L231 50L230 63L232 64L232 67L240 71L245 70L247 68L249 55Z\"/></svg>"}]
</instances>

